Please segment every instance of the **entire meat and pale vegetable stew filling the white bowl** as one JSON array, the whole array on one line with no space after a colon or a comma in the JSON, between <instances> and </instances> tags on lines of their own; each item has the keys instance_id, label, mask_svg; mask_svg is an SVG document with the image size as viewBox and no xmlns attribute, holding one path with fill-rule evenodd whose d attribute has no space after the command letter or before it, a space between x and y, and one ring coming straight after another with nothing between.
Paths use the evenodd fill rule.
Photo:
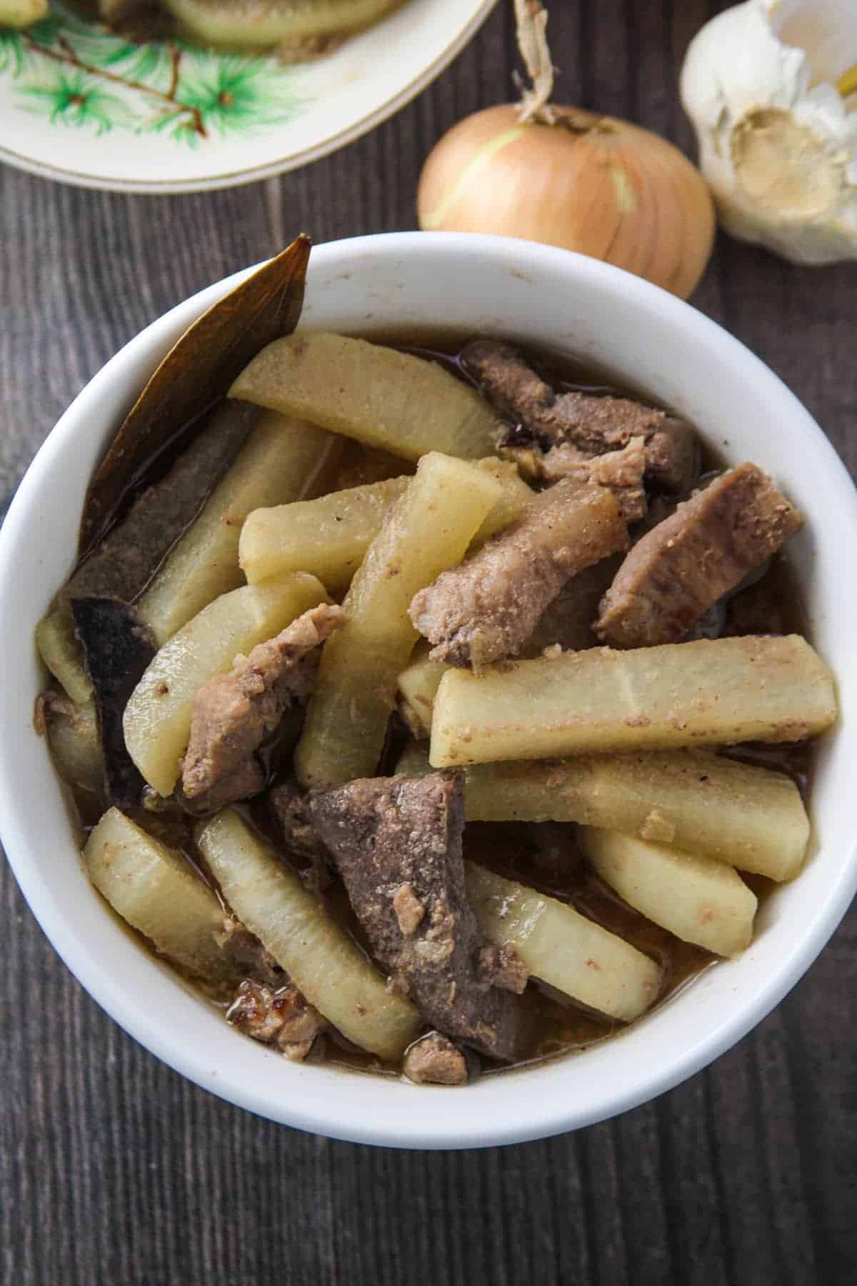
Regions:
<instances>
[{"instance_id":1,"label":"entire meat and pale vegetable stew filling the white bowl","mask_svg":"<svg viewBox=\"0 0 857 1286\"><path fill-rule=\"evenodd\" d=\"M37 629L85 867L289 1060L586 1048L799 877L836 718L800 514L555 356L292 336L274 262L152 377Z\"/></svg>"}]
</instances>

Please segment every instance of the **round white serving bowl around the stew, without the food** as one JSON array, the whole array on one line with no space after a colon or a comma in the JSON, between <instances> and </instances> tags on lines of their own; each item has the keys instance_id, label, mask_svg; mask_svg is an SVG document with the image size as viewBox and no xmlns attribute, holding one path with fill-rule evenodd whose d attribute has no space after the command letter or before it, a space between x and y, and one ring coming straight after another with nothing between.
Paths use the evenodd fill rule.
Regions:
<instances>
[{"instance_id":1,"label":"round white serving bowl around the stew, without the food","mask_svg":"<svg viewBox=\"0 0 857 1286\"><path fill-rule=\"evenodd\" d=\"M197 1084L272 1120L396 1147L479 1147L635 1107L764 1017L825 945L857 887L851 480L815 421L757 358L689 305L615 267L528 242L443 233L367 237L312 252L303 324L370 336L452 327L581 356L687 415L729 459L770 469L807 517L793 556L813 642L838 678L840 719L818 756L803 873L766 900L749 950L622 1035L459 1091L290 1064L242 1039L105 912L32 727L42 684L33 629L75 561L89 477L159 359L243 275L159 318L95 376L40 450L0 532L0 827L23 894L72 972L131 1035Z\"/></svg>"}]
</instances>

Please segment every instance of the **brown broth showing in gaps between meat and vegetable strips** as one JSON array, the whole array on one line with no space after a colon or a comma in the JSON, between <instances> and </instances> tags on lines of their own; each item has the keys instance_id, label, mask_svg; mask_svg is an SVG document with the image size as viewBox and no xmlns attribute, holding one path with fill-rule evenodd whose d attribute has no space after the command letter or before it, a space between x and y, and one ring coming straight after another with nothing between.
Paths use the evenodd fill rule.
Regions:
<instances>
[{"instance_id":1,"label":"brown broth showing in gaps between meat and vegetable strips","mask_svg":"<svg viewBox=\"0 0 857 1286\"><path fill-rule=\"evenodd\" d=\"M403 351L438 361L456 378L474 386L474 381L464 370L460 360L463 347L460 337L438 336L437 333L411 336L411 341L416 340L416 342L410 343L403 343L401 334L379 333L373 334L371 338L393 343ZM614 381L605 379L601 373L592 372L569 359L555 356L545 359L538 354L528 354L528 356L546 378L565 390L594 395L636 396L639 400L649 401L644 395L630 392ZM188 440L189 436L184 432L180 441L172 444L170 450L161 451L149 463L149 467L130 482L122 500L123 509L145 486L166 472ZM705 473L720 472L723 467L725 460L720 454L709 449L707 444L700 444L700 477L704 478ZM385 451L370 450L356 442L348 442L331 473L330 490L411 473L412 469L412 464ZM659 520L675 508L675 498L655 498L653 508L657 508ZM754 612L758 616L755 629L734 628L732 633L808 633L794 575L785 558L777 556L771 559L762 576L731 595L731 601L723 604L721 628L730 631L731 626L738 626L741 619L753 620ZM758 628L759 624L763 626L762 629ZM393 721L389 746L396 745L397 737L401 743L401 733ZM276 775L275 769L280 763L280 757L274 754L275 750L276 743L270 748L269 755L270 779ZM721 752L745 763L786 773L797 782L803 797L807 797L813 759L811 745L741 745L722 747ZM394 755L387 755L380 770L392 772L394 759ZM280 766L283 766L281 763ZM89 829L94 815L91 797L81 795L76 802L82 829ZM269 842L280 847L279 832L263 797L239 806L245 819ZM195 818L190 818L177 806L171 805L161 813L149 813L141 808L135 810L134 819L153 836L181 851L200 878L211 883L218 892L193 841ZM469 860L477 862L497 874L518 880L549 896L568 903L581 914L658 961L663 971L663 983L657 1003L663 1003L667 997L675 995L703 970L716 963L716 957L702 948L681 941L628 907L587 864L577 846L576 831L577 828L572 823L469 823L464 835L464 853ZM289 863L297 862L292 855L283 854L283 856ZM301 865L296 865L296 869L306 873L306 868ZM747 874L743 878L759 899L766 898L773 889L771 881L763 877ZM369 955L369 943L351 909L342 883L334 881L321 896L338 923ZM128 928L128 932L135 940L143 941L150 950L154 950L132 928ZM203 989L199 990L204 994ZM206 998L211 1001L209 995ZM579 1052L626 1029L624 1024L590 1011L535 981L531 981L520 998L520 1008L524 1038L518 1062L511 1066L500 1066L484 1060L483 1071L486 1074L508 1073L515 1067ZM319 1042L319 1047L321 1047L321 1042ZM349 1071L394 1076L400 1070L382 1064L375 1056L355 1048L337 1034L328 1035L324 1047L314 1049L311 1057L314 1061L322 1058L328 1064Z\"/></svg>"}]
</instances>

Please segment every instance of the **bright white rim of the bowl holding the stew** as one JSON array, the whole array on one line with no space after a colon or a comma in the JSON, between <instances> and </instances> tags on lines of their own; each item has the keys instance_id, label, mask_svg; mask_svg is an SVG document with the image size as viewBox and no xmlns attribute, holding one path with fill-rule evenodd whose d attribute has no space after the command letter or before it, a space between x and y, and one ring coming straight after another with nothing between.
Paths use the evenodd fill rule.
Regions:
<instances>
[{"instance_id":1,"label":"bright white rim of the bowl holding the stew","mask_svg":"<svg viewBox=\"0 0 857 1286\"><path fill-rule=\"evenodd\" d=\"M510 271L517 270L515 265L520 262L522 253L526 253L529 262L543 270L555 270L560 262L564 270L569 270L576 278L595 283L596 289L604 289L608 294L621 293L622 298L631 300L635 307L650 312L655 311L672 319L673 324L682 322L685 325L693 324L696 333L695 343L720 349L732 364L743 368L748 378L764 386L766 396L776 403L777 410L785 410L800 422L802 431L809 435L816 468L824 468L827 473L830 485L836 490L838 504L843 505L847 521L857 534L857 490L833 445L806 408L782 381L740 341L690 305L640 278L569 251L533 243L527 243L524 249L522 242L510 238L451 233L385 233L329 242L314 249L311 271L314 267L324 269L328 264L340 264L343 256L370 253L375 257L401 258L401 256L414 251L427 258L436 258L438 266L443 264L447 271L456 257L468 257L477 252L491 257L497 266L508 266ZM60 417L27 469L3 527L0 527L0 619L8 619L8 613L14 610L18 593L14 576L15 548L19 541L26 539L28 525L32 522L41 475L57 457L64 455L71 436L78 431L81 423L87 421L98 423L103 392L112 386L117 377L119 377L118 382L122 382L121 373L126 367L132 369L135 359L141 359L154 349L161 347L162 350L164 332L177 327L184 329L221 294L252 273L256 266L258 265L243 269L206 287L150 323L93 377ZM5 665L5 658L0 655L0 689L14 678L12 671L6 673ZM13 781L14 737L6 733L5 721L0 720L0 831L8 862L24 899L49 941L96 1003L152 1053L202 1088L269 1119L353 1142L418 1148L497 1146L542 1138L595 1124L608 1116L648 1102L707 1066L741 1039L782 999L821 952L857 891L857 847L852 847L848 854L843 855L842 865L830 882L826 896L820 900L812 923L802 941L790 954L784 955L781 966L771 972L764 985L731 1011L729 1016L717 1021L704 1039L696 1040L680 1056L667 1060L664 1065L649 1067L632 1089L626 1091L618 1098L615 1094L610 1098L609 1091L601 1091L599 1098L596 1091L595 1103L581 1109L577 1103L564 1102L561 1096L547 1094L533 1102L533 1098L538 1100L540 1096L531 1094L527 1109L520 1116L486 1120L484 1114L482 1114L483 1119L479 1119L481 1114L474 1111L473 1121L465 1133L460 1127L447 1127L442 1116L438 1120L429 1120L427 1119L429 1114L416 1111L412 1127L403 1128L397 1124L391 1132L391 1125L383 1118L358 1119L356 1110L347 1102L347 1094L343 1096L344 1107L340 1106L335 1093L330 1094L324 1105L317 1096L315 1101L306 1103L298 1101L296 1103L290 1096L287 1100L283 1093L278 1097L275 1089L266 1091L265 1078L258 1078L261 1084L248 1084L235 1078L230 1083L229 1076L212 1069L211 1062L198 1053L193 1043L182 1044L173 1037L164 1034L150 1007L146 1007L136 995L128 995L119 985L118 977L103 970L93 944L76 930L73 919L63 914L63 908L51 894L50 882L31 863L28 853L32 841L27 835L30 819L27 809L17 802ZM194 1003L198 1004L198 1001ZM631 1030L635 1028L636 1025ZM614 1037L609 1044L615 1046L622 1039L622 1037ZM272 1053L269 1056L279 1058ZM519 1076L526 1075L536 1084L535 1076L543 1073L546 1067L561 1066L564 1061L568 1061L568 1057L570 1056L542 1067L517 1071L511 1076L488 1078L488 1082L497 1085L509 1079L515 1082ZM320 1069L301 1069L301 1071L307 1070L315 1074ZM340 1078L343 1073L329 1069L328 1075ZM352 1080L355 1079L385 1087L385 1092L389 1093L389 1088L382 1078L352 1078ZM420 1087L418 1092L427 1093L427 1087ZM437 1093L437 1091L430 1089L428 1092ZM443 1093L443 1091L439 1092ZM299 1094L297 1097L299 1100ZM364 1094L364 1097L371 1100L373 1096L370 1093L369 1096Z\"/></svg>"}]
</instances>

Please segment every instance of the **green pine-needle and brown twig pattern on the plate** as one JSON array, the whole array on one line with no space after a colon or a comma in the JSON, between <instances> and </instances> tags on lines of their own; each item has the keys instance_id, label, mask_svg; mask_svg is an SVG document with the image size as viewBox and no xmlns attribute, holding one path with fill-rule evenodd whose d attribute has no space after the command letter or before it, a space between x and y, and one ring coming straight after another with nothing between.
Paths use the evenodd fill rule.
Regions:
<instances>
[{"instance_id":1,"label":"green pine-needle and brown twig pattern on the plate","mask_svg":"<svg viewBox=\"0 0 857 1286\"><path fill-rule=\"evenodd\" d=\"M158 132L193 148L281 125L306 102L299 72L270 55L137 44L59 4L26 31L0 30L0 75L23 111L54 125Z\"/></svg>"}]
</instances>

